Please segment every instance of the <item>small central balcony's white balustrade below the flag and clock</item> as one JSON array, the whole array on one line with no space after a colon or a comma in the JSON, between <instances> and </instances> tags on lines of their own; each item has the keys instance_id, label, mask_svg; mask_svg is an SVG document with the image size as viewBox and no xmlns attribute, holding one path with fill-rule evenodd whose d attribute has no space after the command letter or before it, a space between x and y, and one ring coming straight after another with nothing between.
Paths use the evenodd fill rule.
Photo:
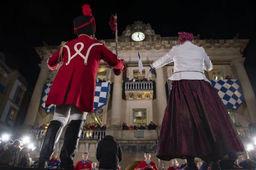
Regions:
<instances>
[{"instance_id":1,"label":"small central balcony's white balustrade below the flag and clock","mask_svg":"<svg viewBox=\"0 0 256 170\"><path fill-rule=\"evenodd\" d=\"M153 90L153 82L126 82L125 90Z\"/></svg>"}]
</instances>

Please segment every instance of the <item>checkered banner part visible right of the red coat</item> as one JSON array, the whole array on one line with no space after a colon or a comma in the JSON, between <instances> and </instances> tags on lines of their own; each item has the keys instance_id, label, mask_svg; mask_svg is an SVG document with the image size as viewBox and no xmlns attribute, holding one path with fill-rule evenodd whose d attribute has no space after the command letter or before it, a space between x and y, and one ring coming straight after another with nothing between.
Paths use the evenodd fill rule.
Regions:
<instances>
[{"instance_id":1,"label":"checkered banner part visible right of the red coat","mask_svg":"<svg viewBox=\"0 0 256 170\"><path fill-rule=\"evenodd\" d=\"M107 104L109 87L109 82L96 83L93 103L94 110L99 109L100 107L103 107Z\"/></svg>"}]
</instances>

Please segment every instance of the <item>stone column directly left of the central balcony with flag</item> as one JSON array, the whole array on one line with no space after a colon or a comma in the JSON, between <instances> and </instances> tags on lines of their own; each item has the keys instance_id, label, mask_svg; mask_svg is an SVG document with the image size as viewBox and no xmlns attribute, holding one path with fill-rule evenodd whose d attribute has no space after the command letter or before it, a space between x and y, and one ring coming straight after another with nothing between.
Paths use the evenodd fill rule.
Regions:
<instances>
[{"instance_id":1,"label":"stone column directly left of the central balcony with flag","mask_svg":"<svg viewBox=\"0 0 256 170\"><path fill-rule=\"evenodd\" d=\"M112 94L112 106L111 106L111 129L121 129L121 114L122 114L122 73L114 77L114 87Z\"/></svg>"}]
</instances>

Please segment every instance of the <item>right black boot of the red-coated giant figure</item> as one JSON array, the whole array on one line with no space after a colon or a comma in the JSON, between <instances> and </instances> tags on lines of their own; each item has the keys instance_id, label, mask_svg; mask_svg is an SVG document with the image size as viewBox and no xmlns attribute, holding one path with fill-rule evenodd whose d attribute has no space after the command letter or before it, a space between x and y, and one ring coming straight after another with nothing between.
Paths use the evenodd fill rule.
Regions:
<instances>
[{"instance_id":1,"label":"right black boot of the red-coated giant figure","mask_svg":"<svg viewBox=\"0 0 256 170\"><path fill-rule=\"evenodd\" d=\"M73 157L83 129L84 120L71 120L60 151L60 169L73 169Z\"/></svg>"}]
</instances>

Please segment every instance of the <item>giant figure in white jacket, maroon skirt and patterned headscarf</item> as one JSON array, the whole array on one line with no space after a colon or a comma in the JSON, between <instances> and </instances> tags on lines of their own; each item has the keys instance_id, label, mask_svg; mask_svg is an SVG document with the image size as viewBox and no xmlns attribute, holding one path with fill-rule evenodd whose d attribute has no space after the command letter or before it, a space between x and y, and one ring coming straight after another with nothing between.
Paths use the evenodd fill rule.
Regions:
<instances>
[{"instance_id":1,"label":"giant figure in white jacket, maroon skirt and patterned headscarf","mask_svg":"<svg viewBox=\"0 0 256 170\"><path fill-rule=\"evenodd\" d=\"M246 153L222 99L204 72L213 68L203 47L194 45L194 36L178 32L180 45L150 63L158 69L174 62L172 85L166 106L156 156L161 160L187 159L188 170L198 170L199 157L219 170L218 160Z\"/></svg>"}]
</instances>

